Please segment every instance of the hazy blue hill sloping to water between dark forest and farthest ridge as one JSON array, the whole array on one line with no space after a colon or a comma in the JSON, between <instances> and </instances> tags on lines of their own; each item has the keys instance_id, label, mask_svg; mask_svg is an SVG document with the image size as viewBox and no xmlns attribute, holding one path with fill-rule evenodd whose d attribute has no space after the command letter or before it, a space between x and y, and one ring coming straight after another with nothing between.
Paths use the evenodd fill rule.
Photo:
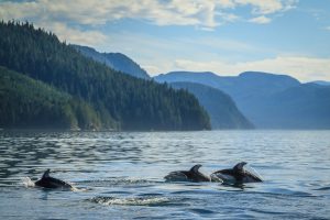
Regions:
<instances>
[{"instance_id":1,"label":"hazy blue hill sloping to water between dark forest and farthest ridge","mask_svg":"<svg viewBox=\"0 0 330 220\"><path fill-rule=\"evenodd\" d=\"M195 82L172 82L170 86L187 89L197 97L210 116L212 129L253 129L253 124L245 119L227 94Z\"/></svg>"}]
</instances>

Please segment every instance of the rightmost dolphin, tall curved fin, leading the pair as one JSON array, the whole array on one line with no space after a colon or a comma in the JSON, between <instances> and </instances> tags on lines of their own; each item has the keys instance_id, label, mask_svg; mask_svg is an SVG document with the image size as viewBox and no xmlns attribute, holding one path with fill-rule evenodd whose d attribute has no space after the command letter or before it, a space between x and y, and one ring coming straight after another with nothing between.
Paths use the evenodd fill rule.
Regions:
<instances>
[{"instance_id":1,"label":"rightmost dolphin, tall curved fin, leading the pair","mask_svg":"<svg viewBox=\"0 0 330 220\"><path fill-rule=\"evenodd\" d=\"M241 162L238 163L233 168L217 170L211 174L211 179L222 179L224 184L244 184L263 182L263 179L257 174L254 174L244 168L246 164L246 162Z\"/></svg>"}]
</instances>

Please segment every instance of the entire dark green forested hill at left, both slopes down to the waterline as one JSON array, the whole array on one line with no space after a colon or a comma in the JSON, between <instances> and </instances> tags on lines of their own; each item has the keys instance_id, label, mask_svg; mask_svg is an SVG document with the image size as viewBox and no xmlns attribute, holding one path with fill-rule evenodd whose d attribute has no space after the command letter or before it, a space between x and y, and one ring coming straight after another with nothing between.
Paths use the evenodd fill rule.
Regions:
<instances>
[{"instance_id":1,"label":"entire dark green forested hill at left, both slopes down to the waterline","mask_svg":"<svg viewBox=\"0 0 330 220\"><path fill-rule=\"evenodd\" d=\"M48 128L57 121L55 128L210 129L207 112L188 91L118 73L28 22L0 22L0 66L26 76L1 68L2 128ZM29 82L9 86L15 80Z\"/></svg>"}]
</instances>

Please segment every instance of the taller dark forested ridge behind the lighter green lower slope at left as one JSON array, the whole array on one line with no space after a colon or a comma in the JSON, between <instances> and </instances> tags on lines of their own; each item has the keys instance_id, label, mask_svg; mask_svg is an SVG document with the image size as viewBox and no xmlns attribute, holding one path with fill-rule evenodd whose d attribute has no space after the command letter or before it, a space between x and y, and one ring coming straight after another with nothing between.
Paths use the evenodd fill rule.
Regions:
<instances>
[{"instance_id":1,"label":"taller dark forested ridge behind the lighter green lower slope at left","mask_svg":"<svg viewBox=\"0 0 330 220\"><path fill-rule=\"evenodd\" d=\"M0 65L84 100L123 130L210 129L207 112L189 92L120 74L30 23L0 23Z\"/></svg>"}]
</instances>

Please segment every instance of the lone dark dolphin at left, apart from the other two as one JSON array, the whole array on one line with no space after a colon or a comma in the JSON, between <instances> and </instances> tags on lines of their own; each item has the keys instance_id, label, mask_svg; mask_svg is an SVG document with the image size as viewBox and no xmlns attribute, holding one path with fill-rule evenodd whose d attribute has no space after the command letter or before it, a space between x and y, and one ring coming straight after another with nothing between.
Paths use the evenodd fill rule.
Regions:
<instances>
[{"instance_id":1,"label":"lone dark dolphin at left, apart from the other two","mask_svg":"<svg viewBox=\"0 0 330 220\"><path fill-rule=\"evenodd\" d=\"M62 189L74 189L74 187L61 179L54 178L50 176L51 169L47 169L41 179L34 183L35 186L55 189L55 188L62 188Z\"/></svg>"}]
</instances>

